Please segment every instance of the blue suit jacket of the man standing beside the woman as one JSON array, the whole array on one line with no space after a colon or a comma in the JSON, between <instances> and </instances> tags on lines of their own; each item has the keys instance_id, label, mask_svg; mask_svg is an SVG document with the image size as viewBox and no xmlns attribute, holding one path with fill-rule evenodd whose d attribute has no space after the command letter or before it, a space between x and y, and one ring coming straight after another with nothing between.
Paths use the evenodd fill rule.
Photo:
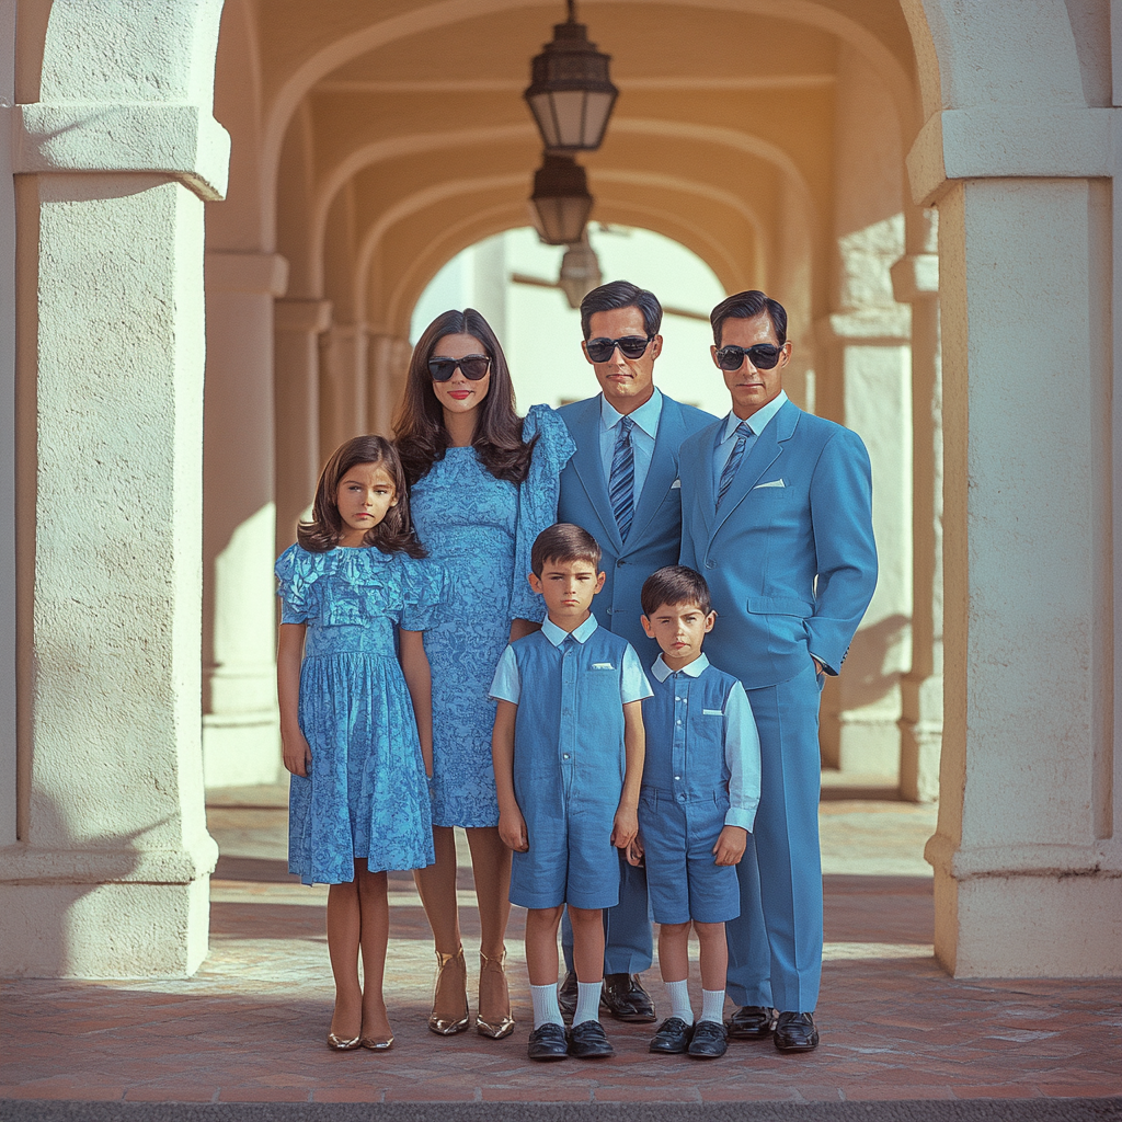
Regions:
<instances>
[{"instance_id":1,"label":"blue suit jacket of the man standing beside the woman","mask_svg":"<svg viewBox=\"0 0 1122 1122\"><path fill-rule=\"evenodd\" d=\"M592 600L592 610L600 626L623 635L638 652L643 665L650 668L657 657L659 644L643 631L640 589L655 569L678 564L682 531L681 489L674 486L679 449L683 440L711 425L715 419L662 395L651 470L635 504L625 544L611 513L600 459L600 395L563 405L558 412L577 444L576 454L561 472L558 521L583 526L600 543L600 565L607 580Z\"/></svg>"}]
</instances>

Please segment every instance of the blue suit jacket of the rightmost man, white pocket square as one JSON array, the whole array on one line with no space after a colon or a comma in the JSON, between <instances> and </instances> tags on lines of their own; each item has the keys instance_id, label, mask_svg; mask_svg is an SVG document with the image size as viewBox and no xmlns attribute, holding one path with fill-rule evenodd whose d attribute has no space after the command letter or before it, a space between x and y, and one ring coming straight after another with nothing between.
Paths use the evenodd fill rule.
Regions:
<instances>
[{"instance_id":1,"label":"blue suit jacket of the rightmost man, white pocket square","mask_svg":"<svg viewBox=\"0 0 1122 1122\"><path fill-rule=\"evenodd\" d=\"M747 689L793 678L811 653L836 674L876 587L865 445L785 402L718 511L712 456L723 424L686 442L679 469L681 563L705 576L718 614L706 653Z\"/></svg>"}]
</instances>

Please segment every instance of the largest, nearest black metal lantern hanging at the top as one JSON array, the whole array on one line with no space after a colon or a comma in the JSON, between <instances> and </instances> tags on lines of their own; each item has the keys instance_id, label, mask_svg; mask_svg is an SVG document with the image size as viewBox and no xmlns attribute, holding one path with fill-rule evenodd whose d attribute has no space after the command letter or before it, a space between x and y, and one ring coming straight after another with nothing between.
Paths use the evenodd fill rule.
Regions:
<instances>
[{"instance_id":1,"label":"largest, nearest black metal lantern hanging at the top","mask_svg":"<svg viewBox=\"0 0 1122 1122\"><path fill-rule=\"evenodd\" d=\"M608 73L611 56L588 42L585 25L577 22L574 0L567 2L569 19L554 24L553 42L531 64L523 96L546 151L594 151L619 91Z\"/></svg>"}]
</instances>

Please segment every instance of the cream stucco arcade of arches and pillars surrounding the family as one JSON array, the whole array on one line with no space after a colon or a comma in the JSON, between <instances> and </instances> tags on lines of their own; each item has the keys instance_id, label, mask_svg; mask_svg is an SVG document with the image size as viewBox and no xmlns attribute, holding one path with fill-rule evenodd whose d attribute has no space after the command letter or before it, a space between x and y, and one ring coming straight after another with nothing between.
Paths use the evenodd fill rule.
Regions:
<instances>
[{"instance_id":1,"label":"cream stucco arcade of arches and pillars surrounding the family","mask_svg":"<svg viewBox=\"0 0 1122 1122\"><path fill-rule=\"evenodd\" d=\"M425 287L526 226L541 140L521 93L564 4L8 8L20 534L0 901L26 919L0 965L190 973L203 776L278 778L273 560L330 451L390 431ZM936 951L964 975L1122 971L1109 10L579 6L620 90L581 157L594 220L782 301L788 394L870 449L881 579L824 696L824 765L940 799ZM1057 394L1058 365L1075 377ZM1041 426L1059 481L1026 456ZM49 517L75 458L98 466L99 511L80 534L95 595L76 599ZM160 544L120 497L146 479ZM77 744L90 775L67 766ZM140 918L110 954L123 903ZM67 937L38 947L61 916Z\"/></svg>"}]
</instances>

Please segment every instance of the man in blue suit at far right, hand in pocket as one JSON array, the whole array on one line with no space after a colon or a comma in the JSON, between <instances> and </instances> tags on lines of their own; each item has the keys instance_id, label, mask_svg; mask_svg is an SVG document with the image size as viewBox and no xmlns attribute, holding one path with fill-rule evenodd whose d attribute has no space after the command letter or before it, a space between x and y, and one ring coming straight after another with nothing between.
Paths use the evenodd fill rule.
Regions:
<instances>
[{"instance_id":1,"label":"man in blue suit at far right, hand in pocket","mask_svg":"<svg viewBox=\"0 0 1122 1122\"><path fill-rule=\"evenodd\" d=\"M709 582L718 618L706 650L744 683L761 751L741 917L726 927L741 1006L728 1028L810 1051L822 965L818 702L876 585L872 472L856 433L783 393L780 303L738 293L710 320L733 408L682 447L681 563Z\"/></svg>"}]
</instances>

